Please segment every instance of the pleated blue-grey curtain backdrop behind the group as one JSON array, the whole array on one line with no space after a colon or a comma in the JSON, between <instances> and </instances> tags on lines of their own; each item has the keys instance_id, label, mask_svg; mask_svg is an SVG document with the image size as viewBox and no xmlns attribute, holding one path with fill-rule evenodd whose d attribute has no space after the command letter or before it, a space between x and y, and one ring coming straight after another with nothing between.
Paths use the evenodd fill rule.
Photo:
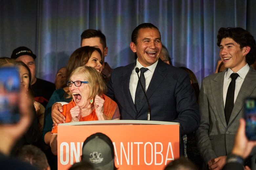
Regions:
<instances>
[{"instance_id":1,"label":"pleated blue-grey curtain backdrop behind the group","mask_svg":"<svg viewBox=\"0 0 256 170\"><path fill-rule=\"evenodd\" d=\"M0 0L0 56L18 46L37 55L37 77L54 81L58 68L80 47L85 29L101 29L112 68L134 62L133 29L156 25L173 65L197 76L213 74L220 27L243 27L256 36L254 0Z\"/></svg>"}]
</instances>

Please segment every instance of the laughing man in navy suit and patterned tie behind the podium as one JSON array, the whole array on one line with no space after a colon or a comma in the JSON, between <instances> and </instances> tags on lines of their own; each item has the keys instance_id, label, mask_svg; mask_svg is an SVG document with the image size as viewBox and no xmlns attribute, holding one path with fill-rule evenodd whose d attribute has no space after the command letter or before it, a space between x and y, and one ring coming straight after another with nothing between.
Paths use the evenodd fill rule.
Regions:
<instances>
[{"instance_id":1,"label":"laughing man in navy suit and patterned tie behind the podium","mask_svg":"<svg viewBox=\"0 0 256 170\"><path fill-rule=\"evenodd\" d=\"M151 120L180 123L181 136L195 131L200 124L196 96L187 73L159 59L159 29L151 23L138 25L130 47L137 53L137 61L114 69L107 84L107 95L117 102L121 119L147 120L148 105L135 71L138 67L151 107Z\"/></svg>"}]
</instances>

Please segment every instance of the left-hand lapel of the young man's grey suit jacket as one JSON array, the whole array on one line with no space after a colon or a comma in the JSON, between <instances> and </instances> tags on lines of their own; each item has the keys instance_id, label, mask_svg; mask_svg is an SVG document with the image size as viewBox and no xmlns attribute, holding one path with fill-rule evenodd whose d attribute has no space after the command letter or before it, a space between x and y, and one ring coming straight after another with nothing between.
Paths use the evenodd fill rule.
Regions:
<instances>
[{"instance_id":1,"label":"left-hand lapel of the young man's grey suit jacket","mask_svg":"<svg viewBox=\"0 0 256 170\"><path fill-rule=\"evenodd\" d=\"M224 104L223 104L223 82L224 75L226 71L223 71L220 74L217 74L215 78L210 80L211 84L211 93L213 97L213 102L217 109L217 116L220 117L220 120L224 127L227 127L225 112L224 112ZM210 101L211 102L211 101Z\"/></svg>"}]
</instances>

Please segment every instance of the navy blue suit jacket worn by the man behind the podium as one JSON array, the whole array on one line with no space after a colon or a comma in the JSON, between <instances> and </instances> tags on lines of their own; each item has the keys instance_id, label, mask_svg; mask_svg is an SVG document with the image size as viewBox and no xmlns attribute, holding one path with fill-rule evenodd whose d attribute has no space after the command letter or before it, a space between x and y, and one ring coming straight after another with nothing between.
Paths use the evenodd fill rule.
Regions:
<instances>
[{"instance_id":1,"label":"navy blue suit jacket worn by the man behind the podium","mask_svg":"<svg viewBox=\"0 0 256 170\"><path fill-rule=\"evenodd\" d=\"M122 120L147 120L148 105L145 97L137 113L129 90L130 76L135 65L136 62L114 69L107 84L107 95L117 102ZM178 122L181 135L199 127L196 96L184 70L159 59L146 95L151 108L151 120Z\"/></svg>"}]
</instances>

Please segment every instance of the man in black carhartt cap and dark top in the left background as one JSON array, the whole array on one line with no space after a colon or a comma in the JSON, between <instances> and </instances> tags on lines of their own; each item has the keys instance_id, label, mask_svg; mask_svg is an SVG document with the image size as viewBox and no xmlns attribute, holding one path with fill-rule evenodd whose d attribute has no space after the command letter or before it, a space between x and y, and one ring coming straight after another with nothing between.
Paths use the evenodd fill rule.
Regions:
<instances>
[{"instance_id":1,"label":"man in black carhartt cap and dark top in the left background","mask_svg":"<svg viewBox=\"0 0 256 170\"><path fill-rule=\"evenodd\" d=\"M18 47L12 51L11 59L24 62L31 72L31 85L34 93L34 100L46 107L48 100L55 90L55 85L49 81L35 77L36 55L27 47Z\"/></svg>"}]
</instances>

